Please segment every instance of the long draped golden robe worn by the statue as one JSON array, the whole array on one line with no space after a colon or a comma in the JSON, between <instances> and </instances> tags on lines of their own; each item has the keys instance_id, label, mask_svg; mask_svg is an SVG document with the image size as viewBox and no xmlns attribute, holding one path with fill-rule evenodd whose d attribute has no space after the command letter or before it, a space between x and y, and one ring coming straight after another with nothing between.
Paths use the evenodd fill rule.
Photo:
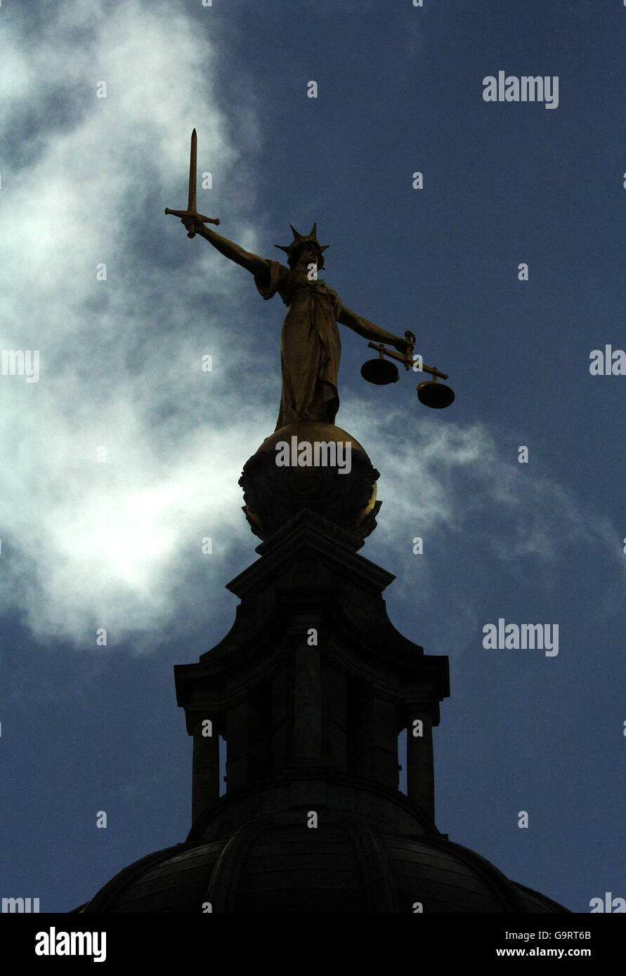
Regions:
<instances>
[{"instance_id":1,"label":"long draped golden robe worn by the statue","mask_svg":"<svg viewBox=\"0 0 626 976\"><path fill-rule=\"evenodd\" d=\"M321 279L310 281L305 270L268 261L255 276L264 299L276 292L287 305L280 333L282 393L275 429L297 421L334 424L339 408L337 372L341 340L337 319L341 300Z\"/></svg>"}]
</instances>

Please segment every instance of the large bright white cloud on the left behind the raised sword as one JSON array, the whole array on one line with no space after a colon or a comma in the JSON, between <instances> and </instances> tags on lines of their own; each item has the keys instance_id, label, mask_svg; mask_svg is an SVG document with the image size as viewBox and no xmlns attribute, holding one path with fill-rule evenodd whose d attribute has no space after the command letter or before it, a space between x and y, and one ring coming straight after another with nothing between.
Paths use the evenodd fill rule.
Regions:
<instances>
[{"instance_id":1,"label":"large bright white cloud on the left behind the raised sword","mask_svg":"<svg viewBox=\"0 0 626 976\"><path fill-rule=\"evenodd\" d=\"M106 10L62 5L27 36L3 27L14 80L0 121L24 135L2 174L0 348L40 351L39 383L0 377L3 605L37 637L81 646L95 645L95 627L111 642L153 639L188 609L190 567L206 585L200 539L213 538L216 565L225 540L248 531L237 477L267 432L234 402L237 337L202 317L207 264L233 318L242 272L163 215L185 206L194 125L198 172L213 160L236 185L209 94L210 31L174 4ZM53 122L40 109L55 102ZM230 221L254 243L232 207ZM271 379L257 385L262 400Z\"/></svg>"}]
</instances>

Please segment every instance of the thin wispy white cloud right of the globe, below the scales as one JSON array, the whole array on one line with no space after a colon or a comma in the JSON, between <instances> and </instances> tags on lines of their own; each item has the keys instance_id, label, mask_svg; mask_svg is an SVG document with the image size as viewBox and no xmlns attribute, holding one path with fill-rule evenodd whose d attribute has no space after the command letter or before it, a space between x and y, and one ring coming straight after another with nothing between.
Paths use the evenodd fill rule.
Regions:
<instances>
[{"instance_id":1,"label":"thin wispy white cloud right of the globe, below the scales","mask_svg":"<svg viewBox=\"0 0 626 976\"><path fill-rule=\"evenodd\" d=\"M355 415L368 413L365 403L346 402ZM384 457L379 485L393 491L384 532L396 533L407 520L418 518L435 531L467 533L479 514L498 512L509 521L485 545L502 558L532 554L554 559L557 525L560 540L607 541L602 519L583 512L545 472L519 464L517 449L506 457L484 424L463 426L427 416L408 432L399 413L369 414L366 448L375 466L383 466ZM383 498L382 490L379 495Z\"/></svg>"}]
</instances>

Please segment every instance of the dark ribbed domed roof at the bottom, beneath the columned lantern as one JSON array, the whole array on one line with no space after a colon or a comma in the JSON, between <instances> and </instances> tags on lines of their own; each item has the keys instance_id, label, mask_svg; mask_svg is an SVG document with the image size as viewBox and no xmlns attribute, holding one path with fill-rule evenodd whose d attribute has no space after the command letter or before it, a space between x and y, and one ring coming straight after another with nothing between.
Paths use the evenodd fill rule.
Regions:
<instances>
[{"instance_id":1,"label":"dark ribbed domed roof at the bottom, beneath the columned lantern","mask_svg":"<svg viewBox=\"0 0 626 976\"><path fill-rule=\"evenodd\" d=\"M360 820L315 829L255 820L228 838L148 854L81 913L562 913L443 837L383 834Z\"/></svg>"}]
</instances>

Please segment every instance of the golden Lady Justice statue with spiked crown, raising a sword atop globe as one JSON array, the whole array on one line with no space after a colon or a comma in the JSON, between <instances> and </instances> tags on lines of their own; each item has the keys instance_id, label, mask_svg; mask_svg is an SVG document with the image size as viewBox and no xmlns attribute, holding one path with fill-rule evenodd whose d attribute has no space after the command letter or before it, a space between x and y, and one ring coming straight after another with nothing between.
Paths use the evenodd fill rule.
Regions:
<instances>
[{"instance_id":1,"label":"golden Lady Justice statue with spiked crown, raising a sword atop globe","mask_svg":"<svg viewBox=\"0 0 626 976\"><path fill-rule=\"evenodd\" d=\"M288 247L274 245L286 253L286 267L277 261L244 251L238 244L205 226L205 223L220 222L203 217L195 208L195 151L194 129L191 135L188 209L166 209L165 213L181 218L188 230L188 237L195 234L204 237L216 250L230 258L230 261L250 271L264 299L271 299L277 292L287 305L280 334L282 394L275 429L298 421L334 424L339 408L337 372L341 358L337 323L347 325L365 339L395 346L401 354L397 358L407 359L406 368L410 362L409 352L412 351L412 345L408 339L400 339L366 318L361 318L342 303L337 293L323 279L317 278L317 271L324 267L323 252L328 245L317 242L315 224L309 234L300 234L292 226L294 239L291 244ZM426 369L438 376L445 376L429 367Z\"/></svg>"}]
</instances>

